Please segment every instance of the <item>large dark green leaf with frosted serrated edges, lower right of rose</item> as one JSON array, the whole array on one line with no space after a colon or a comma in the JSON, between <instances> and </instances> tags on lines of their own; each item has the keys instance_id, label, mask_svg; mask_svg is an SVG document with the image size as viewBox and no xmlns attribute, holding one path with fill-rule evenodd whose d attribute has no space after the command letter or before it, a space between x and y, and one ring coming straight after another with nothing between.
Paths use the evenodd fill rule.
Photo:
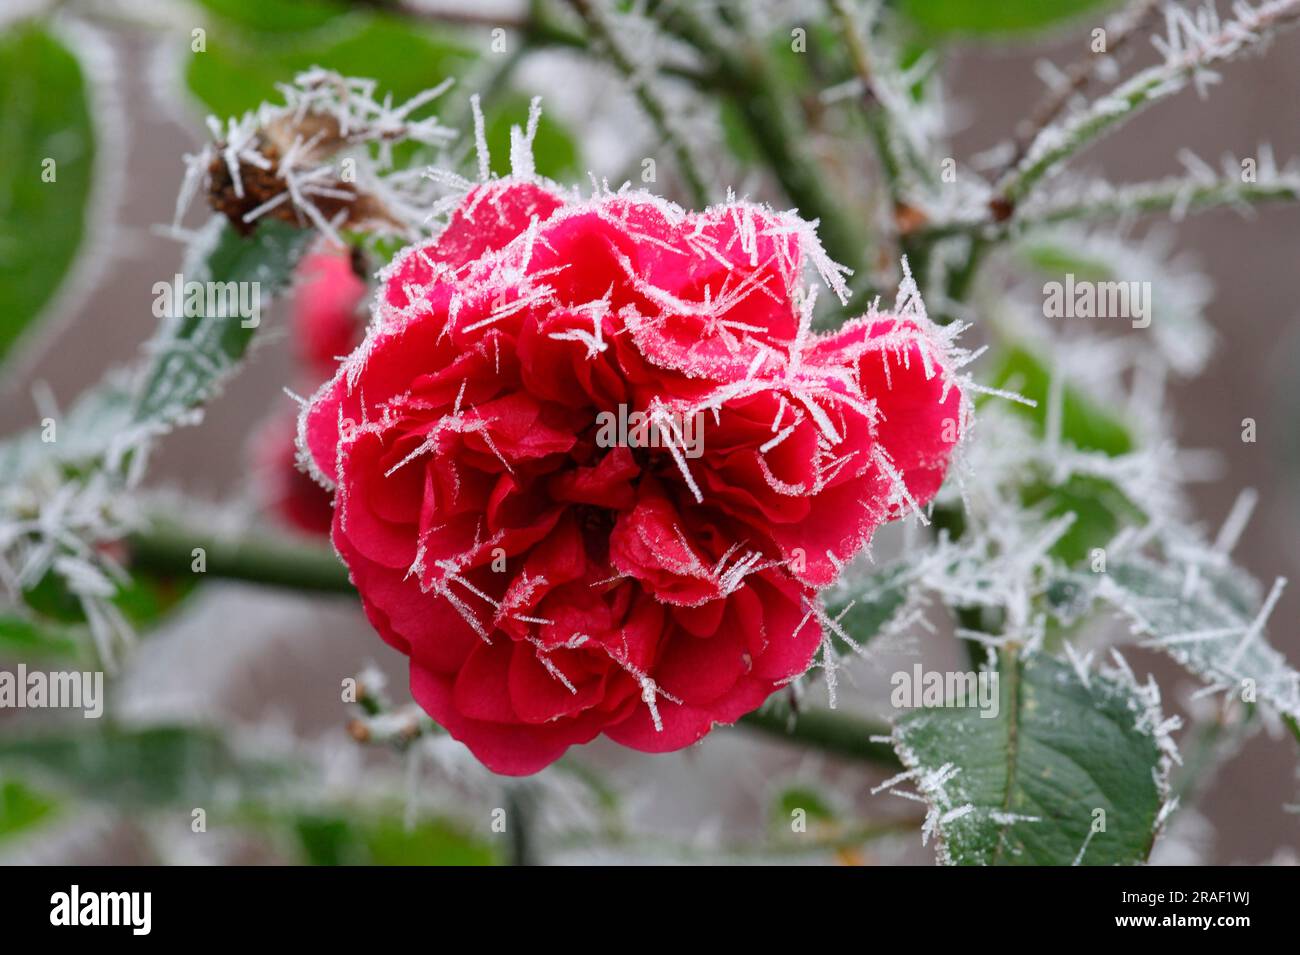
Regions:
<instances>
[{"instance_id":1,"label":"large dark green leaf with frosted serrated edges, lower right of rose","mask_svg":"<svg viewBox=\"0 0 1300 955\"><path fill-rule=\"evenodd\" d=\"M966 865L1145 861L1167 772L1149 702L1131 681L1092 673L1086 685L1041 654L1004 655L998 676L996 716L927 707L894 728L897 752L931 806L940 858ZM1104 832L1095 832L1097 820Z\"/></svg>"}]
</instances>

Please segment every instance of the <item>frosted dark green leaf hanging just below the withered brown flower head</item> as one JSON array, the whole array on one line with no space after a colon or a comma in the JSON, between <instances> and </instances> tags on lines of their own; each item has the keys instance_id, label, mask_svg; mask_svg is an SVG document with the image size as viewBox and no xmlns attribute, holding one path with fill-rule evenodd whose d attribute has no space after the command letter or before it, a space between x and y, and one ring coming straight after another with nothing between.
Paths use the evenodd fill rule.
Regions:
<instances>
[{"instance_id":1,"label":"frosted dark green leaf hanging just below the withered brown flower head","mask_svg":"<svg viewBox=\"0 0 1300 955\"><path fill-rule=\"evenodd\" d=\"M216 226L214 246L204 259L185 270L186 283L237 283L251 288L257 283L257 300L285 288L298 260L316 239L309 229L296 229L278 220L259 223L251 238L243 238L226 222ZM186 316L174 303L169 318L151 346L150 361L135 399L136 424L173 424L181 414L212 396L230 369L243 357L257 327L238 314L225 313L220 300L214 313L207 303L199 314ZM260 321L259 321L260 324Z\"/></svg>"}]
</instances>

